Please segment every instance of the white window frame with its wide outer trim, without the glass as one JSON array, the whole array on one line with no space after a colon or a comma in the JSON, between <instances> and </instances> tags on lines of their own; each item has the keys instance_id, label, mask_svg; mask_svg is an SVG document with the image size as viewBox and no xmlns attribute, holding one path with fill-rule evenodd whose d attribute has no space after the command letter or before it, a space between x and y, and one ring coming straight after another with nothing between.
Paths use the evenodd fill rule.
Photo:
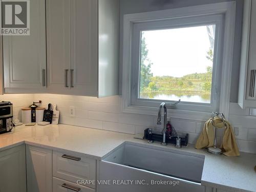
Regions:
<instances>
[{"instance_id":1,"label":"white window frame with its wide outer trim, without the glass","mask_svg":"<svg viewBox=\"0 0 256 192\"><path fill-rule=\"evenodd\" d=\"M214 65L219 66L220 69L213 69L214 80L212 82L214 84L212 87L214 89L212 90L214 91L211 92L211 103L214 105L181 102L175 109L169 103L168 114L173 118L201 121L208 119L211 111L218 110L228 118L235 16L236 2L124 15L123 112L156 115L158 106L162 102L162 100L138 99L140 31L148 29L148 26L154 30L154 27L157 28L158 25L165 25L169 29L193 24L198 26L216 24L216 34L222 33L223 35L216 35L218 38L215 39L215 55L218 56L215 57L214 62L222 63L222 65ZM145 24L145 22L148 23ZM221 60L216 60L216 58ZM216 71L221 71L221 74L217 75Z\"/></svg>"}]
</instances>

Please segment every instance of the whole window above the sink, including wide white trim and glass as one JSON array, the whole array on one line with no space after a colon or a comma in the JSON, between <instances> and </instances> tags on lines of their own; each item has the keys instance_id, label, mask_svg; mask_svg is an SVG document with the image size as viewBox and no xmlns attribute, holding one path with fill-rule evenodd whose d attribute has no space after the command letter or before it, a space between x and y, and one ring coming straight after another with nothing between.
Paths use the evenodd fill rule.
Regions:
<instances>
[{"instance_id":1,"label":"whole window above the sink, including wide white trim and glass","mask_svg":"<svg viewBox=\"0 0 256 192\"><path fill-rule=\"evenodd\" d=\"M153 115L165 102L179 115L228 114L234 10L230 2L125 15L124 112Z\"/></svg>"}]
</instances>

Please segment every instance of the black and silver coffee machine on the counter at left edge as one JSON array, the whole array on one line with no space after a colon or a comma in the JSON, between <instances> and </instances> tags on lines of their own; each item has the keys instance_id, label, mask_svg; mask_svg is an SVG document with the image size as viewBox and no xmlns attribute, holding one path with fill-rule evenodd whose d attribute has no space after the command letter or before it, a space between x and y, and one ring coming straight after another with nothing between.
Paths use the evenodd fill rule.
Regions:
<instances>
[{"instance_id":1,"label":"black and silver coffee machine on the counter at left edge","mask_svg":"<svg viewBox=\"0 0 256 192\"><path fill-rule=\"evenodd\" d=\"M12 130L12 103L8 101L0 102L0 134Z\"/></svg>"}]
</instances>

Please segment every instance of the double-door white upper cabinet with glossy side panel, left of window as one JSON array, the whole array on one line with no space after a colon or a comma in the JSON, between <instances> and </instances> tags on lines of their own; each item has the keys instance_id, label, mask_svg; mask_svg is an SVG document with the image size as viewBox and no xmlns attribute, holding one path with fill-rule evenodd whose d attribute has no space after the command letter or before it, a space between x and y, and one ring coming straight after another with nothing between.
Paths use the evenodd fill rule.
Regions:
<instances>
[{"instance_id":1,"label":"double-door white upper cabinet with glossy side panel, left of window","mask_svg":"<svg viewBox=\"0 0 256 192\"><path fill-rule=\"evenodd\" d=\"M47 0L48 92L118 94L119 1Z\"/></svg>"}]
</instances>

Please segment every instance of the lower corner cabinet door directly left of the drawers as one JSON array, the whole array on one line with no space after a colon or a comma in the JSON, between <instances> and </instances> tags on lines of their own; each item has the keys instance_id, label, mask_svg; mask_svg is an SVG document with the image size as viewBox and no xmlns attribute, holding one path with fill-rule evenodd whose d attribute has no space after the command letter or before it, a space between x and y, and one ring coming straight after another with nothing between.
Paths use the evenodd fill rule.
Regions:
<instances>
[{"instance_id":1,"label":"lower corner cabinet door directly left of the drawers","mask_svg":"<svg viewBox=\"0 0 256 192\"><path fill-rule=\"evenodd\" d=\"M52 151L27 145L28 192L52 191Z\"/></svg>"}]
</instances>

